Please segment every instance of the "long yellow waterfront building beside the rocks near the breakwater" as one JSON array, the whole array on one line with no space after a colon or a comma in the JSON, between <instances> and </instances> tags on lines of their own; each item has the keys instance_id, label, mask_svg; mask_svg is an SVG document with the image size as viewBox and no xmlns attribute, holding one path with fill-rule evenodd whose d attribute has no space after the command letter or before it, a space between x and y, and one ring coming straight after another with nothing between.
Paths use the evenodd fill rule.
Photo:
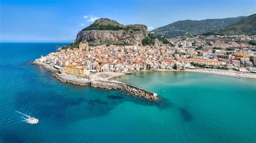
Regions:
<instances>
[{"instance_id":1,"label":"long yellow waterfront building beside the rocks near the breakwater","mask_svg":"<svg viewBox=\"0 0 256 143\"><path fill-rule=\"evenodd\" d=\"M70 73L79 77L89 75L90 70L86 70L83 66L66 65L63 70L64 73Z\"/></svg>"}]
</instances>

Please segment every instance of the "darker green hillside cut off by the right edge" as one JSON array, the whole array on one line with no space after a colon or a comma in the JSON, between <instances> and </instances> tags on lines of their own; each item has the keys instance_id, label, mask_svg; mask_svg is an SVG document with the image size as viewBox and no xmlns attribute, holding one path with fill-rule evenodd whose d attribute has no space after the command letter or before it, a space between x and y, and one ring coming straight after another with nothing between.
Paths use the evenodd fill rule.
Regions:
<instances>
[{"instance_id":1,"label":"darker green hillside cut off by the right edge","mask_svg":"<svg viewBox=\"0 0 256 143\"><path fill-rule=\"evenodd\" d=\"M244 17L240 21L219 30L224 35L256 35L256 14Z\"/></svg>"}]
</instances>

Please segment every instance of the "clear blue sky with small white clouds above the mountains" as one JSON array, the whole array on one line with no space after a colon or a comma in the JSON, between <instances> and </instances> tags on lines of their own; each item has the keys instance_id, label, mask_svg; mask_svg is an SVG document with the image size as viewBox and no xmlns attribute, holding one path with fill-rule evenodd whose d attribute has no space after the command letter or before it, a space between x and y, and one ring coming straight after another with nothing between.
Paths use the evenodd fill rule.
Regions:
<instances>
[{"instance_id":1,"label":"clear blue sky with small white clouds above the mountains","mask_svg":"<svg viewBox=\"0 0 256 143\"><path fill-rule=\"evenodd\" d=\"M98 18L145 24L248 16L256 0L0 0L0 42L72 41Z\"/></svg>"}]
</instances>

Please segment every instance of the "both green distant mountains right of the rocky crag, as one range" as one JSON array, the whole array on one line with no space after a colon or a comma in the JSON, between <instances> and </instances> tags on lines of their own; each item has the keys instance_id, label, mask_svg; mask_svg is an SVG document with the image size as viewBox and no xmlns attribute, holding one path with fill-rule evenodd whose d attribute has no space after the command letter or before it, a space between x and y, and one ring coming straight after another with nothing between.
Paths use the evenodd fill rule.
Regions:
<instances>
[{"instance_id":1,"label":"both green distant mountains right of the rocky crag, as one range","mask_svg":"<svg viewBox=\"0 0 256 143\"><path fill-rule=\"evenodd\" d=\"M157 36L178 37L198 34L255 35L256 14L244 17L178 21L152 30Z\"/></svg>"}]
</instances>

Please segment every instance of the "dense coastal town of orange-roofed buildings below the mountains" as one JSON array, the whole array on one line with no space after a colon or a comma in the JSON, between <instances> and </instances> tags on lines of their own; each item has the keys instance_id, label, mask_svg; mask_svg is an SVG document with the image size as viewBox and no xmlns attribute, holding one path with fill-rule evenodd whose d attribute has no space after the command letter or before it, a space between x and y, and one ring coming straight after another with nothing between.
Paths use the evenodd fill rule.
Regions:
<instances>
[{"instance_id":1,"label":"dense coastal town of orange-roofed buildings below the mountains","mask_svg":"<svg viewBox=\"0 0 256 143\"><path fill-rule=\"evenodd\" d=\"M183 37L169 39L171 44L152 46L89 46L80 42L79 48L53 52L39 61L59 72L83 78L98 72L129 74L152 70L210 71L253 78L256 77L256 46L248 42L254 39L245 35Z\"/></svg>"}]
</instances>

